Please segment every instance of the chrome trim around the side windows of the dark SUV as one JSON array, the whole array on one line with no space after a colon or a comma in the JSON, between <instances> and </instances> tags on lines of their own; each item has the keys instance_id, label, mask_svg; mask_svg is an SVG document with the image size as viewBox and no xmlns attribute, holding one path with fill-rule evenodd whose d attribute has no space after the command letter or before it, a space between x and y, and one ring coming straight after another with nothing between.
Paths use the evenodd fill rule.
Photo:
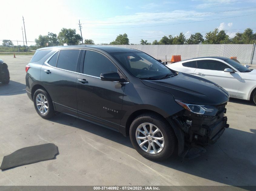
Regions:
<instances>
[{"instance_id":1,"label":"chrome trim around the side windows of the dark SUV","mask_svg":"<svg viewBox=\"0 0 256 191\"><path fill-rule=\"evenodd\" d=\"M72 72L72 73L75 73L75 74L81 74L81 75L85 75L85 76L89 76L89 77L101 79L100 77L97 77L97 76L92 76L92 75L88 75L88 74L84 74L84 73L80 73L80 72L74 72L74 71L70 71L70 70L65 70L65 69L57 68L57 67L54 67L54 66L48 64L49 60L50 60L56 53L58 53L58 52L61 51L61 50L80 50L80 51L81 51L81 50L85 50L85 51L86 51L86 50L89 50L89 51L94 51L94 52L100 53L100 52L98 52L98 51L90 50L90 49L78 49L78 48L58 49L55 53L52 54L52 56L50 56L50 57L44 62L44 64L45 64L45 65L48 65L48 66L51 67L51 68L55 68L55 69L59 69L59 70L67 71L67 72ZM100 54L102 54L102 53L100 53ZM107 57L107 56L104 55L104 54L102 54L102 55L105 56L105 57ZM108 57L107 57L107 58L108 58ZM117 65L116 65L110 58L108 58L108 59L117 67ZM58 62L58 59L57 59L57 62ZM57 66L57 63L56 63L56 66ZM117 69L119 69L119 68L117 67ZM115 82L116 82L116 83L120 83L120 82L117 82L117 81L115 81ZM121 84L129 84L129 82L122 82Z\"/></svg>"}]
</instances>

